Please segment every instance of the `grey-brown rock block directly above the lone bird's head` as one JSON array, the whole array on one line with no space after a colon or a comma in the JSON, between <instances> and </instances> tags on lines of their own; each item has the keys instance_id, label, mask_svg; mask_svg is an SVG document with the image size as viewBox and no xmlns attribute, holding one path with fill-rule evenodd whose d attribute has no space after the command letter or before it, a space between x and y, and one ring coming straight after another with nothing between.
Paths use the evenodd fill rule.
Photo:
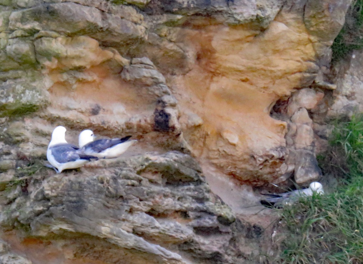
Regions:
<instances>
[{"instance_id":1,"label":"grey-brown rock block directly above the lone bird's head","mask_svg":"<svg viewBox=\"0 0 363 264\"><path fill-rule=\"evenodd\" d=\"M314 153L309 150L296 150L294 179L298 184L307 185L318 181L322 176L321 169Z\"/></svg>"}]
</instances>

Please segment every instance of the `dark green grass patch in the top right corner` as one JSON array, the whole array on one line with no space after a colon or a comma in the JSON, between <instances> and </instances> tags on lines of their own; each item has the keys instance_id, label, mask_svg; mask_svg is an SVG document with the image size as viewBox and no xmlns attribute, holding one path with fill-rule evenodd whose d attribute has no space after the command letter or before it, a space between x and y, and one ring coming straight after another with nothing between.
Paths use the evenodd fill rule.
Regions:
<instances>
[{"instance_id":1,"label":"dark green grass patch in the top right corner","mask_svg":"<svg viewBox=\"0 0 363 264\"><path fill-rule=\"evenodd\" d=\"M363 48L363 0L354 0L348 9L346 23L335 38L332 61L338 61L351 50Z\"/></svg>"}]
</instances>

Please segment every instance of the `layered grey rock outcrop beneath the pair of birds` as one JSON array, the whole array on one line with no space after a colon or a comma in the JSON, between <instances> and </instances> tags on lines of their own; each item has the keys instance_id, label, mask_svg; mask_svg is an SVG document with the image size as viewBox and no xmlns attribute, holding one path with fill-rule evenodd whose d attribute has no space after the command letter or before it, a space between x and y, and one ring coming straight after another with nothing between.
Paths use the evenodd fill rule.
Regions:
<instances>
[{"instance_id":1,"label":"layered grey rock outcrop beneath the pair of birds","mask_svg":"<svg viewBox=\"0 0 363 264\"><path fill-rule=\"evenodd\" d=\"M134 156L107 169L88 166L56 175L40 169L13 178L1 193L1 212L4 230L16 228L23 236L49 244L63 241L69 260L253 260L235 244L248 239L244 237L248 224L236 220L211 193L196 161L178 152Z\"/></svg>"}]
</instances>

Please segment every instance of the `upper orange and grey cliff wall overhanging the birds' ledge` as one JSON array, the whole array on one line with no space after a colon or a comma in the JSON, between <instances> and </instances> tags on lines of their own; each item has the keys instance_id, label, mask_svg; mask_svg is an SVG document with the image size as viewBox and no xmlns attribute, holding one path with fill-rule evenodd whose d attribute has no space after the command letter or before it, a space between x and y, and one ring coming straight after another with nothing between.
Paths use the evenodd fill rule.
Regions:
<instances>
[{"instance_id":1,"label":"upper orange and grey cliff wall overhanging the birds' ledge","mask_svg":"<svg viewBox=\"0 0 363 264\"><path fill-rule=\"evenodd\" d=\"M287 124L270 108L324 82L350 1L127 3L4 2L0 78L17 98L0 95L2 115L134 133L244 183L287 175ZM290 116L314 107L303 91L315 99L295 96Z\"/></svg>"}]
</instances>

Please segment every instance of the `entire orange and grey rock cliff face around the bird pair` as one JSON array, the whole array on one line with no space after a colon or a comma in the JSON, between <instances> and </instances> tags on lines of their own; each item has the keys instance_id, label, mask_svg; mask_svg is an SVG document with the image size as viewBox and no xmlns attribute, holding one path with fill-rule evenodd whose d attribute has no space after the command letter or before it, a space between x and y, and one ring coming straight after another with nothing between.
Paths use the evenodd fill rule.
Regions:
<instances>
[{"instance_id":1,"label":"entire orange and grey rock cliff face around the bird pair","mask_svg":"<svg viewBox=\"0 0 363 264\"><path fill-rule=\"evenodd\" d=\"M231 190L321 177L325 116L351 107L328 76L350 3L0 1L3 239L33 263L256 263ZM54 175L56 125L139 143Z\"/></svg>"}]
</instances>

